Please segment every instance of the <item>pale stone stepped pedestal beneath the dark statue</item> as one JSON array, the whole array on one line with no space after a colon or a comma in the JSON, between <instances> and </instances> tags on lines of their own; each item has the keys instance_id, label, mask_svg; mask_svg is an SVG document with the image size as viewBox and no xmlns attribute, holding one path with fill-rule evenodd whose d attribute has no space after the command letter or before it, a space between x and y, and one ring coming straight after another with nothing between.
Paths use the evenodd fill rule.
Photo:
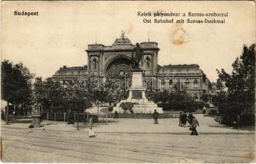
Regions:
<instances>
[{"instance_id":1,"label":"pale stone stepped pedestal beneath the dark statue","mask_svg":"<svg viewBox=\"0 0 256 164\"><path fill-rule=\"evenodd\" d=\"M157 107L156 103L149 101L145 96L146 89L142 84L142 70L133 70L132 86L129 89L129 96L126 100L119 102L114 107L113 112L117 111L123 113L123 108L120 107L121 103L133 103L134 113L153 113L155 110L163 113L161 107Z\"/></svg>"}]
</instances>

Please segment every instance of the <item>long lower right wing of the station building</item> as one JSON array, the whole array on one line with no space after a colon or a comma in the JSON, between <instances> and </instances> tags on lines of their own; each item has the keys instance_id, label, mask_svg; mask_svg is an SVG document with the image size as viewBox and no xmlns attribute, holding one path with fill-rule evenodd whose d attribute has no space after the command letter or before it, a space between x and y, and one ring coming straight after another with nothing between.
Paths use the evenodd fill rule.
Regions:
<instances>
[{"instance_id":1,"label":"long lower right wing of the station building","mask_svg":"<svg viewBox=\"0 0 256 164\"><path fill-rule=\"evenodd\" d=\"M157 74L158 89L173 89L173 84L179 84L193 98L198 99L202 93L210 93L211 82L198 65L161 66Z\"/></svg>"}]
</instances>

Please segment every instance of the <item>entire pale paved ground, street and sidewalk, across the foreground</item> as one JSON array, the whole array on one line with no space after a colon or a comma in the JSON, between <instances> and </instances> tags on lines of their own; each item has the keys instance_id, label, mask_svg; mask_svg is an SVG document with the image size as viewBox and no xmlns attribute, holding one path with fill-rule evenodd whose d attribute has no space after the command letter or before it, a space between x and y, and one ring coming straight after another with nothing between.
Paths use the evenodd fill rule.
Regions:
<instances>
[{"instance_id":1,"label":"entire pale paved ground, street and sidewalk, across the foreground","mask_svg":"<svg viewBox=\"0 0 256 164\"><path fill-rule=\"evenodd\" d=\"M161 119L159 127L148 119L95 125L95 138L88 138L86 128L75 130L73 125L64 123L40 129L28 129L26 124L2 124L2 162L254 161L254 130L213 126L212 118L197 117L201 122L198 136L189 135L188 128L177 126L175 119ZM175 128L168 133L170 123L175 123ZM207 126L214 133L206 133ZM128 132L123 130L128 127Z\"/></svg>"}]
</instances>

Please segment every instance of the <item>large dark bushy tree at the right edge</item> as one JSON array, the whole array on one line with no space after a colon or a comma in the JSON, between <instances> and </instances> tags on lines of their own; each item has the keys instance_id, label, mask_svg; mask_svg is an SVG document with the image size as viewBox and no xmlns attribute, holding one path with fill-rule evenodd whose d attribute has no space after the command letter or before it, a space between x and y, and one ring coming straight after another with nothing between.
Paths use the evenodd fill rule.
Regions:
<instances>
[{"instance_id":1,"label":"large dark bushy tree at the right edge","mask_svg":"<svg viewBox=\"0 0 256 164\"><path fill-rule=\"evenodd\" d=\"M218 111L223 123L233 125L237 115L241 115L244 125L254 124L254 78L255 78L255 44L249 48L244 46L240 57L232 64L231 74L224 69L217 70L217 101ZM244 118L250 120L243 120Z\"/></svg>"}]
</instances>

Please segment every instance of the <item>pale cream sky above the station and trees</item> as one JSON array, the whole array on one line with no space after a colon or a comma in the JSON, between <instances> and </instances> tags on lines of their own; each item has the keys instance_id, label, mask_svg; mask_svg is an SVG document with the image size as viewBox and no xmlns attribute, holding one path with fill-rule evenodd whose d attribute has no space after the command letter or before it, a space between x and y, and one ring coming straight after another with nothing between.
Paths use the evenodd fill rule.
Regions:
<instances>
[{"instance_id":1,"label":"pale cream sky above the station and trees","mask_svg":"<svg viewBox=\"0 0 256 164\"><path fill-rule=\"evenodd\" d=\"M39 16L14 16L14 11L39 11ZM215 11L228 12L228 17L215 17L225 18L225 24L150 24L143 23L147 16L137 16L138 11ZM189 17L174 18L186 21ZM157 42L159 65L198 64L208 79L215 81L216 69L230 72L244 44L255 43L255 27L255 6L249 1L2 2L1 57L23 62L45 79L59 67L86 65L88 44L110 46L123 30L133 44L146 42L148 36ZM184 31L184 43L174 43L177 30Z\"/></svg>"}]
</instances>

